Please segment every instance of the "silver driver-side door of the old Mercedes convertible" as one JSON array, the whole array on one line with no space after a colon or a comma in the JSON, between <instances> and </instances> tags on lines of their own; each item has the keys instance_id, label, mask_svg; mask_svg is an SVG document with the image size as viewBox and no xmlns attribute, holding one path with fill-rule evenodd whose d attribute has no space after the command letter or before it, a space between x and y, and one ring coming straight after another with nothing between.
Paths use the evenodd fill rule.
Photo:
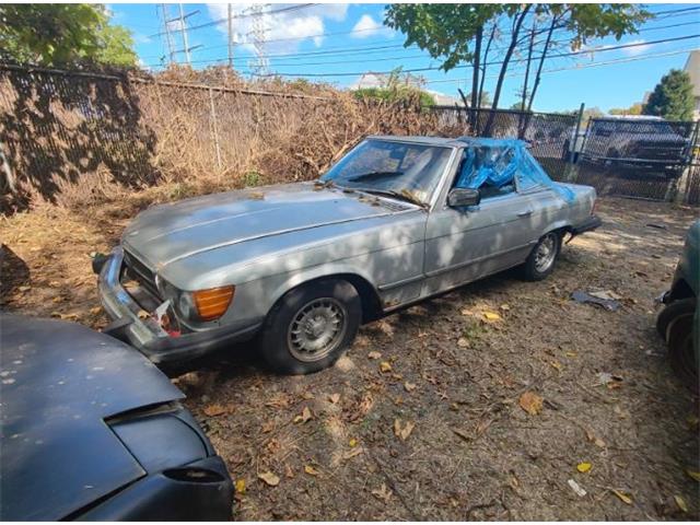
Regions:
<instances>
[{"instance_id":1,"label":"silver driver-side door of the old Mercedes convertible","mask_svg":"<svg viewBox=\"0 0 700 525\"><path fill-rule=\"evenodd\" d=\"M495 153L503 159L503 151ZM463 166L457 170L451 188L466 187L468 177L463 176L463 171L468 155L466 149ZM463 208L448 207L446 194L443 196L425 225L423 295L474 281L525 260L532 247L530 235L525 231L529 228L526 222L534 210L528 197L515 189L513 180L498 190L483 191L479 206Z\"/></svg>"}]
</instances>

